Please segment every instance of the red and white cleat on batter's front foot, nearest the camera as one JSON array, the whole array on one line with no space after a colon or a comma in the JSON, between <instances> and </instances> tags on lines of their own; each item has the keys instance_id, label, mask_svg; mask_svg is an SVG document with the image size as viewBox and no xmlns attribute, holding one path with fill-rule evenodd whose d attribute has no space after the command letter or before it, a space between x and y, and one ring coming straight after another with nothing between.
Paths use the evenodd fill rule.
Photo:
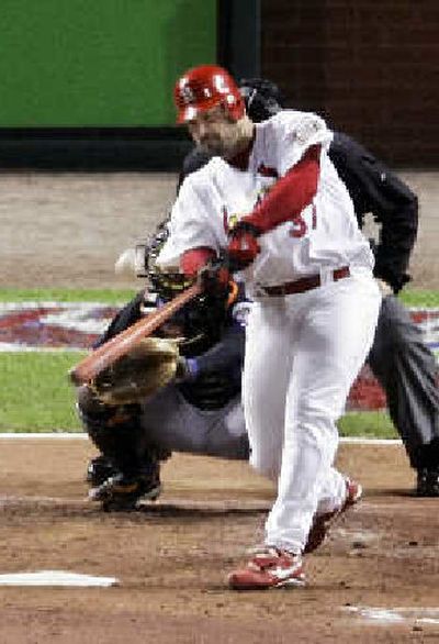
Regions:
<instances>
[{"instance_id":1,"label":"red and white cleat on batter's front foot, nearest the camera","mask_svg":"<svg viewBox=\"0 0 439 644\"><path fill-rule=\"evenodd\" d=\"M268 590L304 584L301 555L273 546L257 549L246 567L228 576L228 586L233 590Z\"/></svg>"}]
</instances>

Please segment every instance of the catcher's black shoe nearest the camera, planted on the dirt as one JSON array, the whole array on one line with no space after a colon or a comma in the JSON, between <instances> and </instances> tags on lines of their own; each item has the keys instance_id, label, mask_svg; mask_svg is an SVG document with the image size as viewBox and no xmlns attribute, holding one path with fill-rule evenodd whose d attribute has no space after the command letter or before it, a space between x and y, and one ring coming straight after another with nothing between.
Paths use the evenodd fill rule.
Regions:
<instances>
[{"instance_id":1,"label":"catcher's black shoe nearest the camera, planted on the dirt","mask_svg":"<svg viewBox=\"0 0 439 644\"><path fill-rule=\"evenodd\" d=\"M135 510L140 499L155 501L160 492L160 464L157 463L148 473L110 476L89 491L89 499L102 503L105 512L122 512Z\"/></svg>"}]
</instances>

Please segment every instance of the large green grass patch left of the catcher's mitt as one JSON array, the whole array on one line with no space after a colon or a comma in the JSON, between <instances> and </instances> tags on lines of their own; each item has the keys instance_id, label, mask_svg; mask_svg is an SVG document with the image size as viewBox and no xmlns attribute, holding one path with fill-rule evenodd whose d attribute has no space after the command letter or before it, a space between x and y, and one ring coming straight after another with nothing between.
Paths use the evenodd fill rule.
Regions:
<instances>
[{"instance_id":1,"label":"large green grass patch left of the catcher's mitt","mask_svg":"<svg viewBox=\"0 0 439 644\"><path fill-rule=\"evenodd\" d=\"M80 431L67 374L85 355L0 353L0 432Z\"/></svg>"}]
</instances>

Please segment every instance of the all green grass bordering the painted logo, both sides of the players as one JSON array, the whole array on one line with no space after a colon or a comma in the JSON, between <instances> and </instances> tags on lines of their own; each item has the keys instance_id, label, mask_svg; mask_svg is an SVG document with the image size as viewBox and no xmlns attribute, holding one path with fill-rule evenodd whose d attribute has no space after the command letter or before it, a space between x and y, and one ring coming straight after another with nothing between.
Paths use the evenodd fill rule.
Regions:
<instances>
[{"instance_id":1,"label":"all green grass bordering the painted logo, both sides of the players","mask_svg":"<svg viewBox=\"0 0 439 644\"><path fill-rule=\"evenodd\" d=\"M97 301L121 304L134 290L0 289L0 301ZM410 307L439 307L439 291L406 290ZM0 432L81 431L75 411L75 389L67 374L85 352L0 353ZM342 436L393 438L386 413L352 412L339 422Z\"/></svg>"}]
</instances>

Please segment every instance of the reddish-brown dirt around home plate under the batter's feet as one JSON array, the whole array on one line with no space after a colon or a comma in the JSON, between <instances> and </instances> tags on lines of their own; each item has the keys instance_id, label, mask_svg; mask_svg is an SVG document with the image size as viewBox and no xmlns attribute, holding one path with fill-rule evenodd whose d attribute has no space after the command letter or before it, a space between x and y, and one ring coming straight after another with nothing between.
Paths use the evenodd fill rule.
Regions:
<instances>
[{"instance_id":1,"label":"reddish-brown dirt around home plate under the batter's feet","mask_svg":"<svg viewBox=\"0 0 439 644\"><path fill-rule=\"evenodd\" d=\"M306 588L236 593L226 573L255 544L273 498L246 464L176 455L158 502L105 514L86 500L87 441L0 445L1 573L119 579L111 588L0 587L1 642L439 639L438 502L410 496L401 446L341 446L339 466L365 497L307 557Z\"/></svg>"}]
</instances>

